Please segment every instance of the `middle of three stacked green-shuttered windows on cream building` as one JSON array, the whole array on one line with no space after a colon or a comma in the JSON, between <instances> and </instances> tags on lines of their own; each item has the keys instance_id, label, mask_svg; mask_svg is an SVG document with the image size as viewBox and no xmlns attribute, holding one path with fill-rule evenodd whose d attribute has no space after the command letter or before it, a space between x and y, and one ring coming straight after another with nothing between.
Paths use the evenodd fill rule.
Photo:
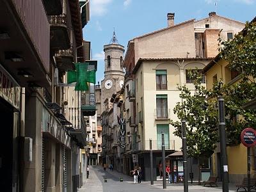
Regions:
<instances>
[{"instance_id":1,"label":"middle of three stacked green-shuttered windows on cream building","mask_svg":"<svg viewBox=\"0 0 256 192\"><path fill-rule=\"evenodd\" d=\"M156 95L156 118L168 118L167 95Z\"/></svg>"}]
</instances>

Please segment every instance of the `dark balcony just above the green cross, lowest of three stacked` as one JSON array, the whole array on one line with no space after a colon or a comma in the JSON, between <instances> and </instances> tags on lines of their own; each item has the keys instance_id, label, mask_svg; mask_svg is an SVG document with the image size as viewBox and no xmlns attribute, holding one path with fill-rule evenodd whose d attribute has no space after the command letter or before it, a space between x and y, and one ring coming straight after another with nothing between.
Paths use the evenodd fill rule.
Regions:
<instances>
[{"instance_id":1,"label":"dark balcony just above the green cross, lowest of three stacked","mask_svg":"<svg viewBox=\"0 0 256 192\"><path fill-rule=\"evenodd\" d=\"M72 46L67 50L59 50L56 52L56 63L59 71L75 70L74 61Z\"/></svg>"}]
</instances>

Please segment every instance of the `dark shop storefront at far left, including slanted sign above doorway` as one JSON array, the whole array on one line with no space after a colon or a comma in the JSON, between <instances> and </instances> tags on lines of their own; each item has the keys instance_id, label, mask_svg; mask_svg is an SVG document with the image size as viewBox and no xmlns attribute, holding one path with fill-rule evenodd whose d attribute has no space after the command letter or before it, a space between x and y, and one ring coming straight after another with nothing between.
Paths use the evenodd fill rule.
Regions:
<instances>
[{"instance_id":1,"label":"dark shop storefront at far left, including slanted sign above doorway","mask_svg":"<svg viewBox=\"0 0 256 192\"><path fill-rule=\"evenodd\" d=\"M0 188L1 191L19 189L19 84L0 65Z\"/></svg>"}]
</instances>

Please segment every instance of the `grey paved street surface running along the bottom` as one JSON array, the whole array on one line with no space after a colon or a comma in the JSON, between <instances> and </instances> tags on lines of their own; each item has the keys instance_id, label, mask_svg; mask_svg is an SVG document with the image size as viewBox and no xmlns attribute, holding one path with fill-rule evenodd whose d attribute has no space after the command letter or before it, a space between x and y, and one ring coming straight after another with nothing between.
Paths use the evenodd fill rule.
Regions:
<instances>
[{"instance_id":1,"label":"grey paved street surface running along the bottom","mask_svg":"<svg viewBox=\"0 0 256 192\"><path fill-rule=\"evenodd\" d=\"M124 182L120 182L120 177L124 178ZM107 178L108 182L104 182ZM221 184L219 184L221 186ZM236 187L230 184L229 191L236 191ZM111 172L109 169L104 172L101 166L90 166L90 175L83 187L78 190L79 192L151 192L151 191L175 191L182 192L182 184L168 184L167 189L163 189L163 182L154 181L154 186L150 182L141 182L141 184L134 184L132 177L118 172ZM190 185L189 192L215 192L222 191L221 187L207 188L204 186Z\"/></svg>"}]
</instances>

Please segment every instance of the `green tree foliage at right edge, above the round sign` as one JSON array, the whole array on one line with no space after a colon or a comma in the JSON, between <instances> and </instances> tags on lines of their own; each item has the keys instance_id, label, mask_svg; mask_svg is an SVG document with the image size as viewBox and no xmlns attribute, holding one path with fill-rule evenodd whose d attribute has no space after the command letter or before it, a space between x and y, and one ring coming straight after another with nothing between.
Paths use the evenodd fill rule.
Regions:
<instances>
[{"instance_id":1,"label":"green tree foliage at right edge, above the round sign","mask_svg":"<svg viewBox=\"0 0 256 192\"><path fill-rule=\"evenodd\" d=\"M247 22L233 40L220 40L220 43L220 58L228 61L230 70L239 72L241 77L238 82L220 89L225 97L228 145L237 145L244 128L256 128L256 110L242 108L245 102L256 97L256 23Z\"/></svg>"}]
</instances>

